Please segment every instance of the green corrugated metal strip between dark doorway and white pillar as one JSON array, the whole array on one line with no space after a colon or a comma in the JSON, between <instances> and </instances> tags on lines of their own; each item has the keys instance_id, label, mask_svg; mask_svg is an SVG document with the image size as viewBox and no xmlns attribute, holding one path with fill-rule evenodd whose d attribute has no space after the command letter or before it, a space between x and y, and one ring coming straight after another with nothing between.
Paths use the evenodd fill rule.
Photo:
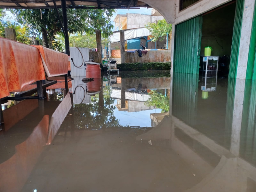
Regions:
<instances>
[{"instance_id":1,"label":"green corrugated metal strip between dark doorway and white pillar","mask_svg":"<svg viewBox=\"0 0 256 192\"><path fill-rule=\"evenodd\" d=\"M230 56L230 65L229 65L229 74L228 74L229 78L236 78L236 69L237 69L237 62L238 62L238 52L239 52L239 45L240 45L243 12L244 12L244 0L236 0L236 13L235 13L234 28L233 28L233 38L232 38L231 56Z\"/></svg>"}]
</instances>

